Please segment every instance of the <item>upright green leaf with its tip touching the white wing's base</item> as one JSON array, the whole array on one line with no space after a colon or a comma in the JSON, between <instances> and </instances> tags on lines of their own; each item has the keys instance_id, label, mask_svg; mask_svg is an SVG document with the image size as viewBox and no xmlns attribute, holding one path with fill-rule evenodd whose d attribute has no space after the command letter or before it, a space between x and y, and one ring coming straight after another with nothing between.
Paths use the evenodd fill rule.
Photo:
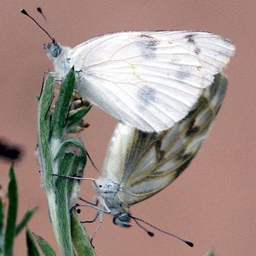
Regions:
<instances>
[{"instance_id":1,"label":"upright green leaf with its tip touching the white wing's base","mask_svg":"<svg viewBox=\"0 0 256 256\"><path fill-rule=\"evenodd\" d=\"M51 121L51 136L63 138L63 130L67 113L70 106L72 93L75 87L75 71L72 68L67 77L61 82L59 96L56 100L55 109Z\"/></svg>"}]
</instances>

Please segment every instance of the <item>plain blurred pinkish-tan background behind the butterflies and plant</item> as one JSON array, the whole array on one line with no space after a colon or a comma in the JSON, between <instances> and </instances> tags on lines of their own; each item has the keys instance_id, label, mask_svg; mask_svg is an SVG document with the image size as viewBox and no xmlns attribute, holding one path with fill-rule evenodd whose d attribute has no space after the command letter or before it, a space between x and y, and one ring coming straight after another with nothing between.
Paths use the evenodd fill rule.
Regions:
<instances>
[{"instance_id":1,"label":"plain blurred pinkish-tan background behind the butterflies and plant","mask_svg":"<svg viewBox=\"0 0 256 256\"><path fill-rule=\"evenodd\" d=\"M207 30L234 42L236 55L226 70L228 92L207 142L174 183L131 208L134 216L194 242L195 247L156 230L152 230L155 237L148 237L135 224L119 228L106 215L94 246L97 255L105 256L201 256L213 246L219 256L256 255L255 1L1 1L0 138L24 150L22 160L15 164L18 220L38 205L29 228L56 249L34 156L35 93L40 93L43 72L52 69L43 50L49 39L20 14L21 8L26 9L46 27L38 6L57 42L71 47L122 30ZM96 107L87 120L90 127L79 137L101 168L117 121ZM0 166L0 183L6 189L10 164L1 160ZM97 176L90 163L85 176ZM82 196L93 200L89 181L82 183ZM82 213L82 220L94 216L93 209L82 209ZM97 225L86 225L90 236ZM15 255L27 255L24 232L15 242Z\"/></svg>"}]
</instances>

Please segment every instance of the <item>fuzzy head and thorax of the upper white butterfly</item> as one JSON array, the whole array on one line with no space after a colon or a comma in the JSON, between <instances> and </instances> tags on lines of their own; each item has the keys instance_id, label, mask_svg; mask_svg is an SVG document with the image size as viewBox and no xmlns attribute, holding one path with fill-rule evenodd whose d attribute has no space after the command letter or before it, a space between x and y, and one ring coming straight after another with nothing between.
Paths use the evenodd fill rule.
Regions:
<instances>
[{"instance_id":1,"label":"fuzzy head and thorax of the upper white butterfly","mask_svg":"<svg viewBox=\"0 0 256 256\"><path fill-rule=\"evenodd\" d=\"M49 59L53 62L55 71L59 73L58 78L65 78L69 69L69 52L70 47L61 46L59 43L44 44L44 50Z\"/></svg>"}]
</instances>

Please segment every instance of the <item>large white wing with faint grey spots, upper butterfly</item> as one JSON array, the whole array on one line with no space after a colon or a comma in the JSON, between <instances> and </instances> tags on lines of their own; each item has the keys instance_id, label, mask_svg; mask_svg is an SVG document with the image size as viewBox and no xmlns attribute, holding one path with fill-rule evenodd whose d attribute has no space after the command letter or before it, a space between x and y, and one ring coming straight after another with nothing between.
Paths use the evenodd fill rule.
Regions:
<instances>
[{"instance_id":1,"label":"large white wing with faint grey spots, upper butterfly","mask_svg":"<svg viewBox=\"0 0 256 256\"><path fill-rule=\"evenodd\" d=\"M73 48L82 97L143 131L160 132L183 119L212 84L234 45L204 31L125 31Z\"/></svg>"}]
</instances>

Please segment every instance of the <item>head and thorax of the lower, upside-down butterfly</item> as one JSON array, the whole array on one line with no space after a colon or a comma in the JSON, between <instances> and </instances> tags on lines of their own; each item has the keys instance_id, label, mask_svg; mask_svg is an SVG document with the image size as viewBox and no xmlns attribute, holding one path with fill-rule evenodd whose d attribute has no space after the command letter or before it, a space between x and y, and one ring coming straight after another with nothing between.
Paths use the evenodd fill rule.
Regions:
<instances>
[{"instance_id":1,"label":"head and thorax of the lower, upside-down butterfly","mask_svg":"<svg viewBox=\"0 0 256 256\"><path fill-rule=\"evenodd\" d=\"M100 203L104 209L109 210L113 216L115 225L129 227L131 226L129 207L123 203L119 197L118 192L122 189L117 183L106 177L100 177L96 180L98 187L95 187Z\"/></svg>"}]
</instances>

